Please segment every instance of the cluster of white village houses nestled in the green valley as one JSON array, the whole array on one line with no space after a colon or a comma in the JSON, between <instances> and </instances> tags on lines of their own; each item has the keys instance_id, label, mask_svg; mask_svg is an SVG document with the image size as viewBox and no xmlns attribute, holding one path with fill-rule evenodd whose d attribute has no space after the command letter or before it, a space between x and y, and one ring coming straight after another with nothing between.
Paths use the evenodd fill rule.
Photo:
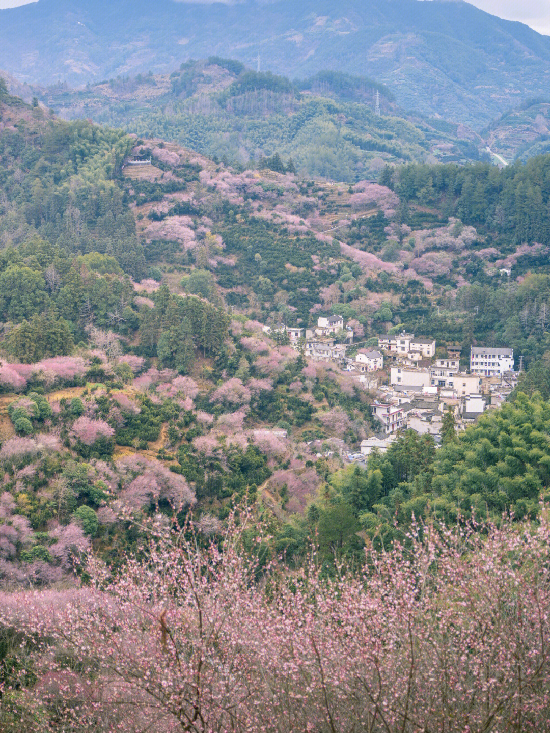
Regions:
<instances>
[{"instance_id":1,"label":"cluster of white village houses nestled in the green valley","mask_svg":"<svg viewBox=\"0 0 550 733\"><path fill-rule=\"evenodd\" d=\"M332 438L332 451L344 460L364 462L374 450L384 453L399 431L415 430L441 443L443 416L450 411L456 430L466 430L485 410L498 408L517 384L513 349L470 347L469 364L461 364L462 347L437 347L435 339L402 331L354 343L354 331L341 315L322 316L313 328L275 323L264 331L284 339L305 358L328 362L350 375L373 395L372 413L379 430L351 452ZM373 345L372 342L377 342Z\"/></svg>"}]
</instances>

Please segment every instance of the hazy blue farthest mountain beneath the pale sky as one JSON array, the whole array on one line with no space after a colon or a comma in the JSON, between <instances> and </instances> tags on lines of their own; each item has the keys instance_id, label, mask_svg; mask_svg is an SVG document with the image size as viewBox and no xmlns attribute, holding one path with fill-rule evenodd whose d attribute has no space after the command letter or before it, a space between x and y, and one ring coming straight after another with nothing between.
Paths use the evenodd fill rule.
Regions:
<instances>
[{"instance_id":1,"label":"hazy blue farthest mountain beneath the pale sky","mask_svg":"<svg viewBox=\"0 0 550 733\"><path fill-rule=\"evenodd\" d=\"M262 69L291 78L368 75L405 108L478 127L550 81L550 37L455 1L38 0L0 11L0 28L0 67L21 81L86 84L260 54Z\"/></svg>"}]
</instances>

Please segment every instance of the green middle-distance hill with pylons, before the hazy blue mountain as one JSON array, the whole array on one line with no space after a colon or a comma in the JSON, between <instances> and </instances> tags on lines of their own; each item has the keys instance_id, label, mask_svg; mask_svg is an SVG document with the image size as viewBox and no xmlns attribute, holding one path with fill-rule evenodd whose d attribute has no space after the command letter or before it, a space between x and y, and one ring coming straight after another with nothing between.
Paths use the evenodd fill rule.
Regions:
<instances>
[{"instance_id":1,"label":"green middle-distance hill with pylons, before the hazy blue mountain","mask_svg":"<svg viewBox=\"0 0 550 733\"><path fill-rule=\"evenodd\" d=\"M210 56L170 75L25 89L64 119L177 141L237 165L278 154L300 174L332 180L376 180L386 163L476 161L484 149L464 125L406 115L386 86L342 72L293 83Z\"/></svg>"}]
</instances>

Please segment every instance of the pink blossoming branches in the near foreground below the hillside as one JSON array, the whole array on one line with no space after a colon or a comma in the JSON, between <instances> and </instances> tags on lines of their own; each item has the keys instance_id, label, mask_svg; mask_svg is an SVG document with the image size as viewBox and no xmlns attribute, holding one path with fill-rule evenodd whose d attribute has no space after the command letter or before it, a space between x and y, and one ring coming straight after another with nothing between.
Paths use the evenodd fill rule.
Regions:
<instances>
[{"instance_id":1,"label":"pink blossoming branches in the near foreground below the hillside","mask_svg":"<svg viewBox=\"0 0 550 733\"><path fill-rule=\"evenodd\" d=\"M1 621L37 644L23 696L34 721L54 711L64 731L128 733L549 729L546 512L538 526L423 528L330 577L313 551L295 572L260 568L255 548L269 538L252 529L230 522L207 545L157 523L122 571L92 560L86 589L4 594Z\"/></svg>"}]
</instances>

